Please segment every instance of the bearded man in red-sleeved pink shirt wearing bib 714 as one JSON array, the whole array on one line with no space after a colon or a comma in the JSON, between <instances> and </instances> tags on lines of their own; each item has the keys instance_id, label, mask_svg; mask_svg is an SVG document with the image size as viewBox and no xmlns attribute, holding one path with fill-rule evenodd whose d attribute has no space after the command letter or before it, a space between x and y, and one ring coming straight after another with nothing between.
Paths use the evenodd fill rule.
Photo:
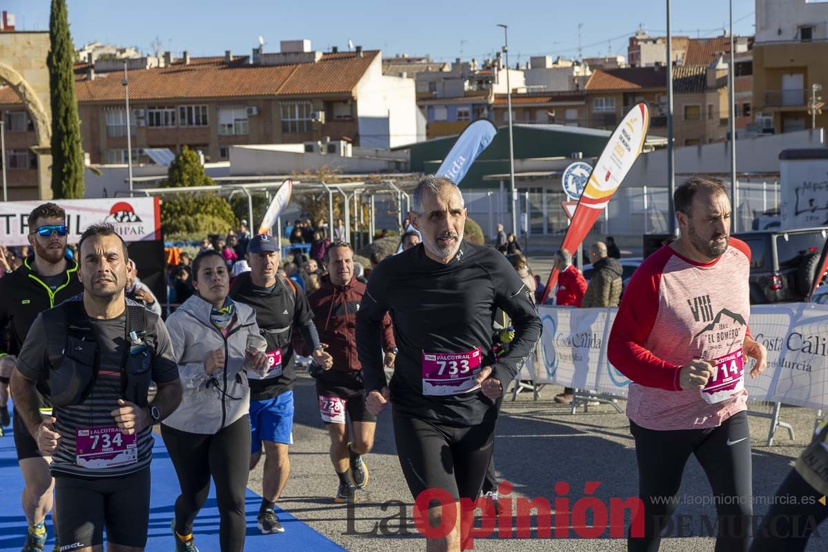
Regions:
<instances>
[{"instance_id":1,"label":"bearded man in red-sleeved pink shirt wearing bib 714","mask_svg":"<svg viewBox=\"0 0 828 552\"><path fill-rule=\"evenodd\" d=\"M627 415L645 517L643 538L630 535L628 547L658 550L694 454L720 516L715 550L748 550L753 494L744 365L745 357L756 359L756 377L767 357L748 328L750 249L729 237L730 201L720 180L692 177L673 203L681 238L635 271L609 335L609 362L633 381Z\"/></svg>"}]
</instances>

